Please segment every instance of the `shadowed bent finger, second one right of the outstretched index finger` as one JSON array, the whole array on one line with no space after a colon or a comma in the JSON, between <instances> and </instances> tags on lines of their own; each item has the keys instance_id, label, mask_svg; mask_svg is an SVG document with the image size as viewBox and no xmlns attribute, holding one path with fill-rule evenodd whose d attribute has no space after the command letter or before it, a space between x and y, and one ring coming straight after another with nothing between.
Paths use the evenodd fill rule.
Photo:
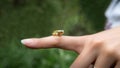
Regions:
<instances>
[{"instance_id":1,"label":"shadowed bent finger, second one right of the outstretched index finger","mask_svg":"<svg viewBox=\"0 0 120 68\"><path fill-rule=\"evenodd\" d=\"M114 57L102 53L98 56L96 60L95 68L110 68L114 62L115 62Z\"/></svg>"}]
</instances>

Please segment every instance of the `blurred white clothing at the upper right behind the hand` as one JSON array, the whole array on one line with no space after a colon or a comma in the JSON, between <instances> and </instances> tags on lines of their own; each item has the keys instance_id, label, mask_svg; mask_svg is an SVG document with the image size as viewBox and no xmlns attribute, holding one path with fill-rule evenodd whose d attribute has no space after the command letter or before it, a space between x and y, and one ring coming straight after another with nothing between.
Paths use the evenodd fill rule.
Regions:
<instances>
[{"instance_id":1,"label":"blurred white clothing at the upper right behind the hand","mask_svg":"<svg viewBox=\"0 0 120 68\"><path fill-rule=\"evenodd\" d=\"M120 0L112 0L105 12L107 18L106 28L120 26Z\"/></svg>"}]
</instances>

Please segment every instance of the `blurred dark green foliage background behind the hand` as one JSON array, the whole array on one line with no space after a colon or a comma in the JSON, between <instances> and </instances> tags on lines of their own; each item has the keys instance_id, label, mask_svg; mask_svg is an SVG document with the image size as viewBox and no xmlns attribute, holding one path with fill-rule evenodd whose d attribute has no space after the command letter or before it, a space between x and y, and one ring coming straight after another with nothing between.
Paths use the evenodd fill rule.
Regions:
<instances>
[{"instance_id":1,"label":"blurred dark green foliage background behind the hand","mask_svg":"<svg viewBox=\"0 0 120 68\"><path fill-rule=\"evenodd\" d=\"M56 29L80 36L104 29L110 0L0 0L0 68L69 68L76 53L29 49L20 41ZM69 45L68 45L69 46Z\"/></svg>"}]
</instances>

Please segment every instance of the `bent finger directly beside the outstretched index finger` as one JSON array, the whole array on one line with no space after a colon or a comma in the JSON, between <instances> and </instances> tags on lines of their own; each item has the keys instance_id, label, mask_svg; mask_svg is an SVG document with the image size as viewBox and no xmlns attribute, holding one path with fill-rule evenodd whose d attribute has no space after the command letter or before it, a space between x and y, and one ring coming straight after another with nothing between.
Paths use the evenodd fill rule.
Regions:
<instances>
[{"instance_id":1,"label":"bent finger directly beside the outstretched index finger","mask_svg":"<svg viewBox=\"0 0 120 68\"><path fill-rule=\"evenodd\" d=\"M83 49L81 54L71 65L71 68L89 68L89 66L95 59L96 59L96 51L93 51L89 48Z\"/></svg>"}]
</instances>

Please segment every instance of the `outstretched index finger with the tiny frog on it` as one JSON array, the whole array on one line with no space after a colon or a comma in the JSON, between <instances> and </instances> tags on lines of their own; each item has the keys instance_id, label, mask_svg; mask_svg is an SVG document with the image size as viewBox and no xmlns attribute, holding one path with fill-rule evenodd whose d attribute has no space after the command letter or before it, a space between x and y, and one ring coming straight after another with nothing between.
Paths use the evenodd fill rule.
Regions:
<instances>
[{"instance_id":1,"label":"outstretched index finger with the tiny frog on it","mask_svg":"<svg viewBox=\"0 0 120 68\"><path fill-rule=\"evenodd\" d=\"M44 38L29 38L21 42L30 48L63 48L74 50L84 44L85 38L72 36L49 36ZM79 49L80 50L80 49Z\"/></svg>"}]
</instances>

